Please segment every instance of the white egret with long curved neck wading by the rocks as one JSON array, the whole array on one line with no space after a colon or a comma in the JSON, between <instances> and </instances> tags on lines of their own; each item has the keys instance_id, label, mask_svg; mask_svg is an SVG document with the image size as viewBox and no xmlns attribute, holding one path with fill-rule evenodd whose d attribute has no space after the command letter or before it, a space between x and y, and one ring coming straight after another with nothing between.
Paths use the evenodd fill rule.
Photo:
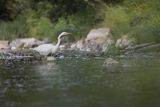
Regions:
<instances>
[{"instance_id":1,"label":"white egret with long curved neck wading by the rocks","mask_svg":"<svg viewBox=\"0 0 160 107\"><path fill-rule=\"evenodd\" d=\"M56 45L53 45L53 44L42 44L42 45L39 45L38 47L36 48L33 48L33 50L37 51L40 55L44 55L44 56L47 56L49 54L53 54L53 53L56 53L57 49L59 48L59 45L61 43L61 37L64 36L64 35L68 35L70 33L67 33L67 32L62 32L59 36L58 36L58 42Z\"/></svg>"}]
</instances>

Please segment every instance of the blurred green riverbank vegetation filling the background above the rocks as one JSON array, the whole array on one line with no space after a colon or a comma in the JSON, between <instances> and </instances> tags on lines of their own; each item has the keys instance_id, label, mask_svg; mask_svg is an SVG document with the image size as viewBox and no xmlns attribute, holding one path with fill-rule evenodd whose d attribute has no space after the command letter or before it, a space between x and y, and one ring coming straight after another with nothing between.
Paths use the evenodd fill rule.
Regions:
<instances>
[{"instance_id":1,"label":"blurred green riverbank vegetation filling the background above the rocks","mask_svg":"<svg viewBox=\"0 0 160 107\"><path fill-rule=\"evenodd\" d=\"M77 40L90 29L109 27L115 38L160 41L159 0L1 0L0 39L50 37L61 31Z\"/></svg>"}]
</instances>

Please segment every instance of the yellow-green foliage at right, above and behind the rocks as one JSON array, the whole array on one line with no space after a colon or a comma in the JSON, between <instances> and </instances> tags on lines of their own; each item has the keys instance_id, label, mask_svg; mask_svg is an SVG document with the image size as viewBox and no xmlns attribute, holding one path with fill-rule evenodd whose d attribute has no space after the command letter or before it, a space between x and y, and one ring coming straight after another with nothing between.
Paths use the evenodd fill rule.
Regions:
<instances>
[{"instance_id":1,"label":"yellow-green foliage at right, above and behind the rocks","mask_svg":"<svg viewBox=\"0 0 160 107\"><path fill-rule=\"evenodd\" d=\"M114 37L128 35L135 37L138 43L160 42L160 14L158 0L124 0L123 4L108 6L105 23Z\"/></svg>"}]
</instances>

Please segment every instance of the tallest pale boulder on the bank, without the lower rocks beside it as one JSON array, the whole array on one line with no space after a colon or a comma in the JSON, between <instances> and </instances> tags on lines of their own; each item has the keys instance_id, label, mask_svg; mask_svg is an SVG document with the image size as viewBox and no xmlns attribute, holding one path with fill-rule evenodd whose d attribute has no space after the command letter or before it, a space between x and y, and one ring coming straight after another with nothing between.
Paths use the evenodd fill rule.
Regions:
<instances>
[{"instance_id":1,"label":"tallest pale boulder on the bank, without the lower rocks beside it","mask_svg":"<svg viewBox=\"0 0 160 107\"><path fill-rule=\"evenodd\" d=\"M85 41L88 48L97 52L106 52L115 43L109 28L91 30Z\"/></svg>"}]
</instances>

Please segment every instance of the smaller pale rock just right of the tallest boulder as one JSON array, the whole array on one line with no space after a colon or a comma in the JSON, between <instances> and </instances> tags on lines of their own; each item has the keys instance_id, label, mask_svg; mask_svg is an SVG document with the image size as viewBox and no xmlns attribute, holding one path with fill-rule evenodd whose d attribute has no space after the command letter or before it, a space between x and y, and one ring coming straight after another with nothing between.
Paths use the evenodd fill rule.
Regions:
<instances>
[{"instance_id":1,"label":"smaller pale rock just right of the tallest boulder","mask_svg":"<svg viewBox=\"0 0 160 107\"><path fill-rule=\"evenodd\" d=\"M134 39L129 38L128 36L122 36L120 39L116 41L116 48L125 49L131 47L134 44Z\"/></svg>"}]
</instances>

